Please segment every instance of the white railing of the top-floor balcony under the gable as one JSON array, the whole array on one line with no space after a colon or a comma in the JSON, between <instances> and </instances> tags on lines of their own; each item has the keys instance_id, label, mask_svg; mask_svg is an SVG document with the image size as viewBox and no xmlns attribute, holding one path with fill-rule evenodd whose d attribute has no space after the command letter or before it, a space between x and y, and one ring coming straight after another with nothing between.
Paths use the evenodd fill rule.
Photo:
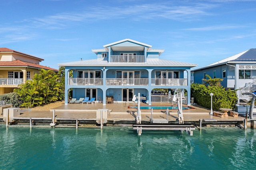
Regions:
<instances>
[{"instance_id":1,"label":"white railing of the top-floor balcony under the gable","mask_svg":"<svg viewBox=\"0 0 256 170\"><path fill-rule=\"evenodd\" d=\"M144 55L110 55L110 63L145 63Z\"/></svg>"}]
</instances>

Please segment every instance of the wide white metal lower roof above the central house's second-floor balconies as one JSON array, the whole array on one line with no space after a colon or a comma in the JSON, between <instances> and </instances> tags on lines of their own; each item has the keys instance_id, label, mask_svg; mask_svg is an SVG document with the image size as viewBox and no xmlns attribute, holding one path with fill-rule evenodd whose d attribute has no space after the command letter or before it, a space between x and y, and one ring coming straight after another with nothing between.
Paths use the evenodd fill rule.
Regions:
<instances>
[{"instance_id":1,"label":"wide white metal lower roof above the central house's second-floor balconies","mask_svg":"<svg viewBox=\"0 0 256 170\"><path fill-rule=\"evenodd\" d=\"M108 63L108 61L104 59L92 59L92 60L74 61L69 63L60 63L58 65L59 66L190 66L190 67L195 67L198 64L162 60L162 59L147 59L146 63Z\"/></svg>"}]
</instances>

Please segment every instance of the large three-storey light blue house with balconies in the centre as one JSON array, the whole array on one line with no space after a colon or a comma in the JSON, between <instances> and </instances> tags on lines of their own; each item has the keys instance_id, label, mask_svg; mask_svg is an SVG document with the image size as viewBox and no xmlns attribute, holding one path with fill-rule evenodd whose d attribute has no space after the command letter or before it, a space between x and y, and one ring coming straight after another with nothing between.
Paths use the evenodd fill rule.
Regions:
<instances>
[{"instance_id":1,"label":"large three-storey light blue house with balconies in the centre","mask_svg":"<svg viewBox=\"0 0 256 170\"><path fill-rule=\"evenodd\" d=\"M92 50L96 59L58 64L65 67L65 104L68 104L70 88L73 89L72 98L102 99L103 104L106 104L106 96L127 102L140 93L149 105L154 102L152 96L156 96L151 94L154 88L185 89L186 102L190 104L188 75L197 64L159 59L164 50L132 39L103 47ZM70 71L73 77L69 77Z\"/></svg>"}]
</instances>

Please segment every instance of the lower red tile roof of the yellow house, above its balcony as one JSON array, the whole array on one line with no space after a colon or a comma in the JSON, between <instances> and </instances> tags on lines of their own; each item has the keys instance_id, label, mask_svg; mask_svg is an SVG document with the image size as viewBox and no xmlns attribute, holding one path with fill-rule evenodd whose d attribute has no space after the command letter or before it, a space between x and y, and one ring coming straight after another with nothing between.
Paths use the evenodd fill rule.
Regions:
<instances>
[{"instance_id":1,"label":"lower red tile roof of the yellow house, above its balcony","mask_svg":"<svg viewBox=\"0 0 256 170\"><path fill-rule=\"evenodd\" d=\"M1 66L27 66L27 67L43 68L43 69L46 69L46 70L58 71L57 69L50 68L48 66L42 66L42 65L39 65L39 64L28 63L28 62L20 61L20 60L0 61L0 67Z\"/></svg>"}]
</instances>

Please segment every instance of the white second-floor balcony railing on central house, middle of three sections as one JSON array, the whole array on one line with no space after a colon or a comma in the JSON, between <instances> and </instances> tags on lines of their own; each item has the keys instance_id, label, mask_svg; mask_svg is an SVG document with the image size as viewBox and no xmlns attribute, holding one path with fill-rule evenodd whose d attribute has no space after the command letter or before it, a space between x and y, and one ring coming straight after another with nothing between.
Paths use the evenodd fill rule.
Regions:
<instances>
[{"instance_id":1,"label":"white second-floor balcony railing on central house, middle of three sections","mask_svg":"<svg viewBox=\"0 0 256 170\"><path fill-rule=\"evenodd\" d=\"M148 78L106 78L107 86L148 86Z\"/></svg>"}]
</instances>

